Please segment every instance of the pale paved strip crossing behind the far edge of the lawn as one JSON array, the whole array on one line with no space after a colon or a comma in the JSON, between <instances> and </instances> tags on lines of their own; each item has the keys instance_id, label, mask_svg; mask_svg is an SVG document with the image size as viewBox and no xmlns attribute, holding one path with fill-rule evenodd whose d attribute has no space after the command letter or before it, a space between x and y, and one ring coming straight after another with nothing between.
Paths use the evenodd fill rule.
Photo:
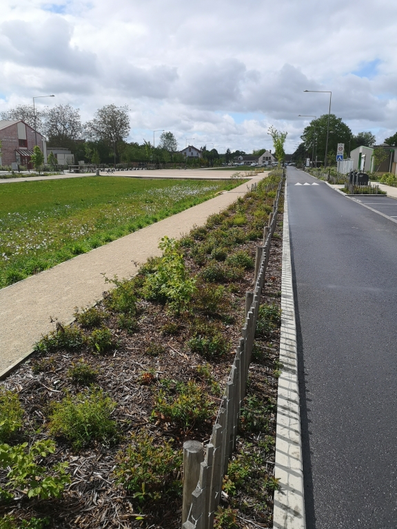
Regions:
<instances>
[{"instance_id":1,"label":"pale paved strip crossing behind the far edge of the lawn","mask_svg":"<svg viewBox=\"0 0 397 529\"><path fill-rule=\"evenodd\" d=\"M129 178L171 178L172 180L230 180L234 172L245 176L250 170L236 167L235 171L222 171L216 169L155 169L153 171L116 171L107 173L101 171L100 176L126 176ZM20 178L0 178L0 184L11 184L15 182L32 182L34 180L63 180L63 178L85 178L95 176L95 173L81 174L55 174L53 176L21 176ZM249 177L248 177L249 178Z\"/></svg>"}]
</instances>

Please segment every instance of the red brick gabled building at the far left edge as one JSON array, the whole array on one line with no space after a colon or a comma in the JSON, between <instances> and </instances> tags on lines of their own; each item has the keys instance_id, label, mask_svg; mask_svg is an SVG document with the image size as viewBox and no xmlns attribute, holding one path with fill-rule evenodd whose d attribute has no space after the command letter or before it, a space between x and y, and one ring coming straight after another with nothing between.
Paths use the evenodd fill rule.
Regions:
<instances>
[{"instance_id":1,"label":"red brick gabled building at the far left edge","mask_svg":"<svg viewBox=\"0 0 397 529\"><path fill-rule=\"evenodd\" d=\"M44 163L47 162L47 146L45 138L39 132L27 125L24 121L0 121L1 156L0 165L11 165L18 163L32 169L30 158L33 147L39 145L44 155Z\"/></svg>"}]
</instances>

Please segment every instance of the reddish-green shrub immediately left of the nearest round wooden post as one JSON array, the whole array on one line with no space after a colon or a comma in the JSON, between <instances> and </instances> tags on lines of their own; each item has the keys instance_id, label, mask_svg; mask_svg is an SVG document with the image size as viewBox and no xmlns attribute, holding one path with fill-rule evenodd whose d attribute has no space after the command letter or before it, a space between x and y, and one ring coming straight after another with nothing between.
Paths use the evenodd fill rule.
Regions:
<instances>
[{"instance_id":1,"label":"reddish-green shrub immediately left of the nearest round wooden post","mask_svg":"<svg viewBox=\"0 0 397 529\"><path fill-rule=\"evenodd\" d=\"M164 439L158 441L148 433L134 433L131 445L118 453L116 462L117 483L140 503L181 491L181 481L177 479L182 464L181 450L173 450Z\"/></svg>"}]
</instances>

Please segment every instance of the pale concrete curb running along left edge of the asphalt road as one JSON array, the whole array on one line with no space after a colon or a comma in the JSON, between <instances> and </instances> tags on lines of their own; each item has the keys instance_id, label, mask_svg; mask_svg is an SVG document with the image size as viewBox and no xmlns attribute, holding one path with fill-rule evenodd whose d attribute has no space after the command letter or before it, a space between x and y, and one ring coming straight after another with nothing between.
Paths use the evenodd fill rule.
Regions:
<instances>
[{"instance_id":1,"label":"pale concrete curb running along left edge of the asphalt road","mask_svg":"<svg viewBox=\"0 0 397 529\"><path fill-rule=\"evenodd\" d=\"M274 475L280 489L274 492L273 529L305 529L305 500L298 387L298 353L294 290L289 245L287 186L283 222L283 270L281 274L281 337L278 379L276 463Z\"/></svg>"}]
</instances>

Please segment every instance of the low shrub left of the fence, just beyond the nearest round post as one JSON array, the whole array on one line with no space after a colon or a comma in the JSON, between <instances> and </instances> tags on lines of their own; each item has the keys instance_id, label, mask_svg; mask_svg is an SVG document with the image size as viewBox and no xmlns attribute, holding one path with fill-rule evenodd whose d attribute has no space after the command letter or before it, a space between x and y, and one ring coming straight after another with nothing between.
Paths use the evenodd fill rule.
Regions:
<instances>
[{"instance_id":1,"label":"low shrub left of the fence, just beyond the nearest round post","mask_svg":"<svg viewBox=\"0 0 397 529\"><path fill-rule=\"evenodd\" d=\"M212 415L212 403L201 386L192 380L178 384L177 395L159 391L152 417L163 418L184 428L202 424Z\"/></svg>"}]
</instances>

